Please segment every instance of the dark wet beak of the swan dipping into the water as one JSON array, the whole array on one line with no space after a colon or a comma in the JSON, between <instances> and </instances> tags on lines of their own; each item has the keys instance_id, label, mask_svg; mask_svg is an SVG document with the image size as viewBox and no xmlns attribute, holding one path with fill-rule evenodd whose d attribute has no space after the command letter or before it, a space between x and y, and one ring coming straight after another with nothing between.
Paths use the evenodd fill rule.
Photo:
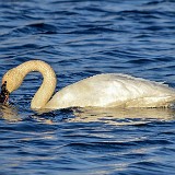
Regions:
<instances>
[{"instance_id":1,"label":"dark wet beak of the swan dipping into the water","mask_svg":"<svg viewBox=\"0 0 175 175\"><path fill-rule=\"evenodd\" d=\"M4 81L1 85L0 103L5 105L9 101L9 95L10 93L7 89L7 81Z\"/></svg>"}]
</instances>

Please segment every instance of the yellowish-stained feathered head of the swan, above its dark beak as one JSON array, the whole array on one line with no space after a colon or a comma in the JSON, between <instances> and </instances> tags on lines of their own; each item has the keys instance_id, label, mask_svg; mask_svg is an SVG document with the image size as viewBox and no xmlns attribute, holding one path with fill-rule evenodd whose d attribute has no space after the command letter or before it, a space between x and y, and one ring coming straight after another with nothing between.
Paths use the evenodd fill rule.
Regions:
<instances>
[{"instance_id":1,"label":"yellowish-stained feathered head of the swan, above its dark beak","mask_svg":"<svg viewBox=\"0 0 175 175\"><path fill-rule=\"evenodd\" d=\"M7 83L7 90L9 93L12 93L16 89L19 89L22 81L23 75L16 68L9 70L2 78L2 84L4 84L4 82Z\"/></svg>"}]
</instances>

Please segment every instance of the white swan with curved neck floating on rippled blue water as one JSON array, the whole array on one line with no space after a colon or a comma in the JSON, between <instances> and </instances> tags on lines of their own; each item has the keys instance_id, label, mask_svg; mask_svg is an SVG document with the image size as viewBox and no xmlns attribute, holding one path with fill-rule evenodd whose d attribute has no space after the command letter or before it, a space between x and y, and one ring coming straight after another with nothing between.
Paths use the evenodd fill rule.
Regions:
<instances>
[{"instance_id":1,"label":"white swan with curved neck floating on rippled blue water","mask_svg":"<svg viewBox=\"0 0 175 175\"><path fill-rule=\"evenodd\" d=\"M54 96L57 84L52 68L42 60L30 60L9 70L2 78L12 93L31 71L39 71L43 83L34 95L32 109L68 107L168 107L175 90L163 83L120 73L97 74L70 84ZM51 97L52 96L52 97Z\"/></svg>"}]
</instances>

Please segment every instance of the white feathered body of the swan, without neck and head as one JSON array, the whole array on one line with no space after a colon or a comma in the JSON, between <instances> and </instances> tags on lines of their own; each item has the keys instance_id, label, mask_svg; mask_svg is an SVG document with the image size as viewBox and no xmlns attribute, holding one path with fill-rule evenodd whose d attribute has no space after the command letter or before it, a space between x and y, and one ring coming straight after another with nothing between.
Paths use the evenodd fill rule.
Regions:
<instances>
[{"instance_id":1,"label":"white feathered body of the swan, without neck and head","mask_svg":"<svg viewBox=\"0 0 175 175\"><path fill-rule=\"evenodd\" d=\"M126 74L97 74L62 89L46 107L161 107L175 100L174 89Z\"/></svg>"}]
</instances>

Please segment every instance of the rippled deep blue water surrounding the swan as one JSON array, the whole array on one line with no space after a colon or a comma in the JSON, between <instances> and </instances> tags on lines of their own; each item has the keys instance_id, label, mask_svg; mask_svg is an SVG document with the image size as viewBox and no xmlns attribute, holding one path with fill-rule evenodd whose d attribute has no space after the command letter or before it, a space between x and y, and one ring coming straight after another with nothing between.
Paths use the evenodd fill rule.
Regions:
<instances>
[{"instance_id":1,"label":"rippled deep blue water surrounding the swan","mask_svg":"<svg viewBox=\"0 0 175 175\"><path fill-rule=\"evenodd\" d=\"M50 63L57 91L128 73L175 88L174 0L0 1L0 77L26 60ZM0 107L2 175L175 174L175 110L30 109L42 83L26 77Z\"/></svg>"}]
</instances>

